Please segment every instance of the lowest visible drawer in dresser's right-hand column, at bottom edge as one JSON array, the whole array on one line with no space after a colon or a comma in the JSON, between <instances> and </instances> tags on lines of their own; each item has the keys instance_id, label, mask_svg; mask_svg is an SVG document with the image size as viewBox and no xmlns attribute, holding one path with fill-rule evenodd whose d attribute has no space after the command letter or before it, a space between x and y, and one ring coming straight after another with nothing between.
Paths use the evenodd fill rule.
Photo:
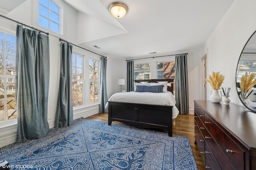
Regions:
<instances>
[{"instance_id":1,"label":"lowest visible drawer in dresser's right-hand column, at bottom edge","mask_svg":"<svg viewBox=\"0 0 256 170\"><path fill-rule=\"evenodd\" d=\"M214 148L213 148L214 149ZM211 170L221 170L217 160L214 158L212 154L212 150L210 150L208 144L205 142L205 168Z\"/></svg>"}]
</instances>

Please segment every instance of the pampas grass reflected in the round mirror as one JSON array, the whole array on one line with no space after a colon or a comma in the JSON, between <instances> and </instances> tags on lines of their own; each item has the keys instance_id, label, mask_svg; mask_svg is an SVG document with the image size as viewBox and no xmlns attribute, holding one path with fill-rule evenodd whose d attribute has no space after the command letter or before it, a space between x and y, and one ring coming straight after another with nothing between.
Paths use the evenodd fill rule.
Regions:
<instances>
[{"instance_id":1,"label":"pampas grass reflected in the round mirror","mask_svg":"<svg viewBox=\"0 0 256 170\"><path fill-rule=\"evenodd\" d=\"M256 84L256 79L254 77L256 73L251 73L248 75L247 71L244 75L241 76L240 90L241 97L247 97L247 93L252 89L252 87Z\"/></svg>"}]
</instances>

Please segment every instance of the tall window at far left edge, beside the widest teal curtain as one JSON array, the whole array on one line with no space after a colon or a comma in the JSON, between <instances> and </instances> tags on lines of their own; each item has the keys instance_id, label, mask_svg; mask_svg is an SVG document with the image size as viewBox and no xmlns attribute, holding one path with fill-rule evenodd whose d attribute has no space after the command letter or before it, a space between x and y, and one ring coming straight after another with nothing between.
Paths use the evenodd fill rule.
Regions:
<instances>
[{"instance_id":1,"label":"tall window at far left edge, beside the widest teal curtain","mask_svg":"<svg viewBox=\"0 0 256 170\"><path fill-rule=\"evenodd\" d=\"M16 37L0 32L0 122L17 119L15 96Z\"/></svg>"}]
</instances>

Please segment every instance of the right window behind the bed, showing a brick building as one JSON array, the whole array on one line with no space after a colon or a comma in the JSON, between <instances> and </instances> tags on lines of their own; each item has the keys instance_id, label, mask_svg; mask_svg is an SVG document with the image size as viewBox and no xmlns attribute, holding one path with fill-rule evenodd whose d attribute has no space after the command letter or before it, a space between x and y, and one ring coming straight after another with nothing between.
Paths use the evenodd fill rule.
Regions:
<instances>
[{"instance_id":1,"label":"right window behind the bed, showing a brick building","mask_svg":"<svg viewBox=\"0 0 256 170\"><path fill-rule=\"evenodd\" d=\"M157 63L157 79L175 78L175 61Z\"/></svg>"}]
</instances>

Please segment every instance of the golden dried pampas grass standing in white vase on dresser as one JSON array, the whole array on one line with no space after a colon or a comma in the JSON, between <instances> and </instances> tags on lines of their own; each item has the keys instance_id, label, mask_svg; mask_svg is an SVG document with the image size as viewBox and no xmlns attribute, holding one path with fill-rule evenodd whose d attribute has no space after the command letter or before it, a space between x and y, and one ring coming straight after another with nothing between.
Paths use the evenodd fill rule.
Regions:
<instances>
[{"instance_id":1,"label":"golden dried pampas grass standing in white vase on dresser","mask_svg":"<svg viewBox=\"0 0 256 170\"><path fill-rule=\"evenodd\" d=\"M210 83L212 89L218 90L220 89L224 79L225 79L225 76L220 74L220 71L219 72L212 71L212 75L209 75L209 79L205 79L205 81Z\"/></svg>"}]
</instances>

